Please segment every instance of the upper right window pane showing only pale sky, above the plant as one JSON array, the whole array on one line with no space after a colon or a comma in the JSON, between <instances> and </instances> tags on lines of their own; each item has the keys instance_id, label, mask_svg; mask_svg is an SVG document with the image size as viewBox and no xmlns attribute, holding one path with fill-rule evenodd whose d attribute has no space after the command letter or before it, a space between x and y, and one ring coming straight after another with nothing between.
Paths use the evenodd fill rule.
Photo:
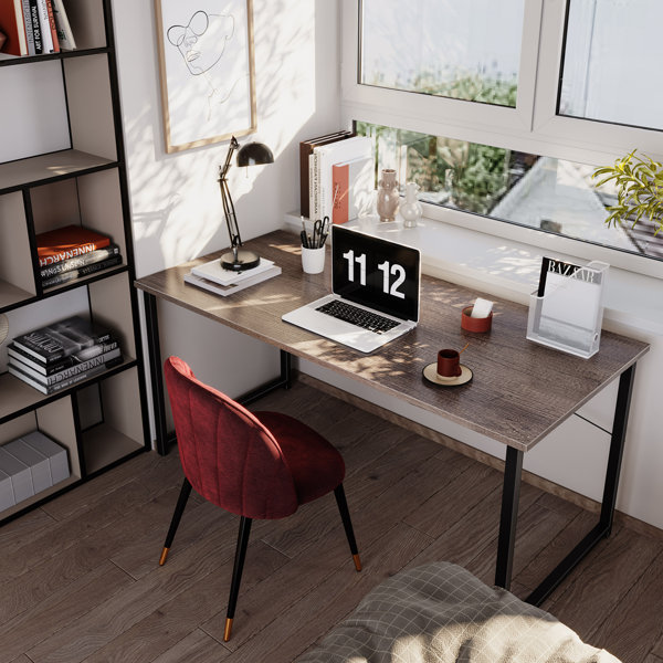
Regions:
<instances>
[{"instance_id":1,"label":"upper right window pane showing only pale sky, above the plant","mask_svg":"<svg viewBox=\"0 0 663 663\"><path fill-rule=\"evenodd\" d=\"M661 0L569 0L558 114L663 129L661 25Z\"/></svg>"}]
</instances>

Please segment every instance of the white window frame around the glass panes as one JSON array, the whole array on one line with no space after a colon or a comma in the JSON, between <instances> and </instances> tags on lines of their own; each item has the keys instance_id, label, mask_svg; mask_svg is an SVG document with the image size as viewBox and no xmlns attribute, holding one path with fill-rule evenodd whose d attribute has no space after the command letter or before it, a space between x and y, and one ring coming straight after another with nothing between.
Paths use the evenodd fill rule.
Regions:
<instances>
[{"instance_id":1,"label":"white window frame around the glass panes","mask_svg":"<svg viewBox=\"0 0 663 663\"><path fill-rule=\"evenodd\" d=\"M654 159L663 155L663 131L556 115L566 0L525 2L516 108L359 84L358 6L357 0L340 0L345 125L361 120L596 166L610 165L634 147ZM433 220L663 278L663 261L440 206L423 206L424 215Z\"/></svg>"}]
</instances>

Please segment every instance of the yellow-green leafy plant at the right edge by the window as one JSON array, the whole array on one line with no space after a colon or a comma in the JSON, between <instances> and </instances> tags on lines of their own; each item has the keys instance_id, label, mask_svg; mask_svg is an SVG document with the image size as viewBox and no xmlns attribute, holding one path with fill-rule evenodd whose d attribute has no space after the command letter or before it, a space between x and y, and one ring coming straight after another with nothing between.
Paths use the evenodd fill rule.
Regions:
<instances>
[{"instance_id":1,"label":"yellow-green leafy plant at the right edge by the window","mask_svg":"<svg viewBox=\"0 0 663 663\"><path fill-rule=\"evenodd\" d=\"M617 204L607 208L608 225L619 225L625 219L632 219L635 225L645 217L659 224L655 236L663 228L663 165L646 155L641 158L635 151L617 159L614 166L598 168L592 178L607 176L597 187L612 180L617 186Z\"/></svg>"}]
</instances>

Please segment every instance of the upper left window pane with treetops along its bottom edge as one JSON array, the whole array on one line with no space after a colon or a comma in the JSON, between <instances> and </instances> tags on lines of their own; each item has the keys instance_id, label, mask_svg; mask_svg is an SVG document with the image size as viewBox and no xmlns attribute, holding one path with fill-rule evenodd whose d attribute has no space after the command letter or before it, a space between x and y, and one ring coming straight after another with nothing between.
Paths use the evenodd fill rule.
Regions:
<instances>
[{"instance_id":1,"label":"upper left window pane with treetops along its bottom edge","mask_svg":"<svg viewBox=\"0 0 663 663\"><path fill-rule=\"evenodd\" d=\"M515 107L525 0L362 0L359 82Z\"/></svg>"}]
</instances>

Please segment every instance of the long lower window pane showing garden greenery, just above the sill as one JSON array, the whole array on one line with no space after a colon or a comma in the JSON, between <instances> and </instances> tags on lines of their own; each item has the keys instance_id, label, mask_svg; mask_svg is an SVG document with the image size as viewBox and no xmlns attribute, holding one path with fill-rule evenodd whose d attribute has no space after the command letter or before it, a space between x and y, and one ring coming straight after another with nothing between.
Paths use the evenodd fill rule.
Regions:
<instances>
[{"instance_id":1,"label":"long lower window pane showing garden greenery, just above the sill","mask_svg":"<svg viewBox=\"0 0 663 663\"><path fill-rule=\"evenodd\" d=\"M617 194L609 185L596 187L594 166L367 123L356 127L373 139L376 179L393 168L401 190L417 182L424 202L663 259L656 224L606 225Z\"/></svg>"}]
</instances>

